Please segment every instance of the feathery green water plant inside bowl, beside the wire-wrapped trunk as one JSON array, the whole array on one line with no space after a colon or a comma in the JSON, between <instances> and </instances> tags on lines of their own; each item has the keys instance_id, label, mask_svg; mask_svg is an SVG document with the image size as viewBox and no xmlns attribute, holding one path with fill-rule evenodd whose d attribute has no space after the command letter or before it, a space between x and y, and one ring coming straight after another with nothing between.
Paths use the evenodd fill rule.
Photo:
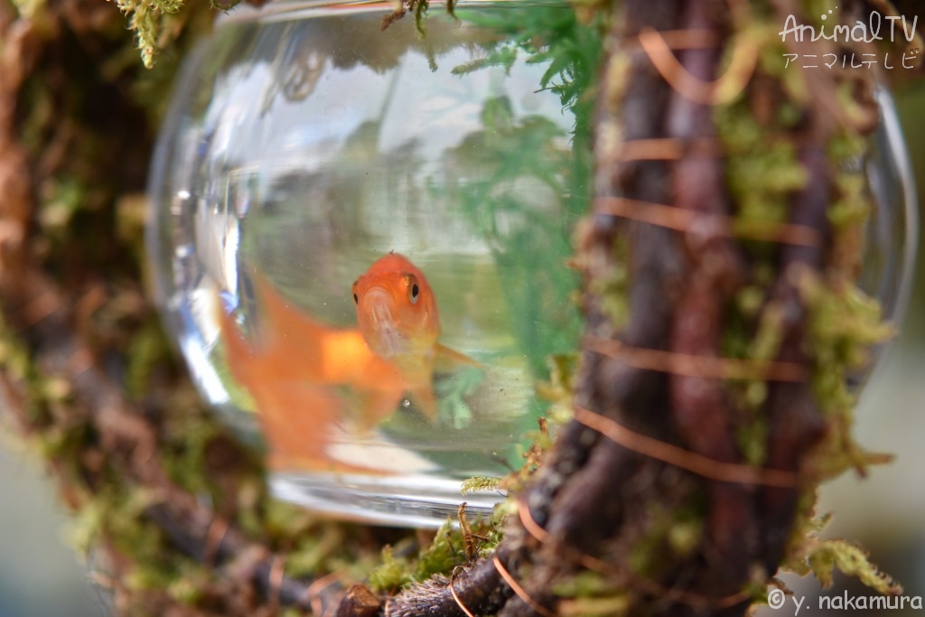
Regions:
<instances>
[{"instance_id":1,"label":"feathery green water plant inside bowl, beside the wire-wrapped trunk","mask_svg":"<svg viewBox=\"0 0 925 617\"><path fill-rule=\"evenodd\" d=\"M533 373L545 376L549 355L573 350L581 323L571 303L578 281L566 262L571 229L587 206L600 33L558 6L459 9L457 15L499 32L503 43L454 68L455 74L488 67L510 71L522 59L542 65L538 89L557 93L563 113L574 118L566 136L549 118L515 117L512 102L499 96L483 106L484 130L449 153L457 172L449 182L450 199L492 247L515 315L512 330ZM565 137L572 144L568 153L561 149Z\"/></svg>"}]
</instances>

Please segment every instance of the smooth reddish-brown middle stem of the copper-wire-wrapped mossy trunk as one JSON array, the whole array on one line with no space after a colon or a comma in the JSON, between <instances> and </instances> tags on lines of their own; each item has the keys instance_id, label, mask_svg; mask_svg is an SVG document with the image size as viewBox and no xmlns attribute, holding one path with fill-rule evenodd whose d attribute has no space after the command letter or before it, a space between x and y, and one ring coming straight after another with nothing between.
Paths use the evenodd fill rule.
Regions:
<instances>
[{"instance_id":1,"label":"smooth reddish-brown middle stem of the copper-wire-wrapped mossy trunk","mask_svg":"<svg viewBox=\"0 0 925 617\"><path fill-rule=\"evenodd\" d=\"M693 28L720 31L722 16L716 6L691 2L685 6L685 24ZM716 139L712 105L731 101L742 92L751 78L757 58L753 41L731 34L733 60L724 77L714 79L719 71L722 54L715 49L689 49L678 57L663 48L658 37L647 37L646 46L652 65L672 86L672 95L665 119L665 131L678 139ZM745 58L736 67L736 58ZM722 81L737 82L727 92ZM672 162L673 204L682 211L729 216L732 210L725 191L723 163L719 158L686 157ZM722 350L724 306L742 289L746 279L746 259L741 249L728 237L714 229L705 229L696 239L686 238L689 263L683 281L679 281L679 298L672 315L670 357L700 358L700 365ZM729 365L721 360L720 366ZM771 366L784 363L755 363L754 376L760 381L781 380ZM806 378L806 368L797 363L796 379ZM697 364L694 364L697 365ZM765 368L759 368L764 365ZM727 378L734 375L728 375ZM734 406L723 389L723 383L709 374L687 373L669 376L673 426L677 428L685 450L685 458L693 462L696 455L711 465L727 463L739 467L743 455L734 431ZM779 473L779 472L778 472ZM790 474L788 474L790 475ZM796 481L790 475L793 487ZM757 553L759 527L755 515L754 490L742 483L729 483L711 478L704 486L708 498L704 513L704 529L699 552L710 561L710 567L697 572L692 584L697 589L709 589L714 595L741 592L749 582L749 565ZM728 611L744 610L743 605L728 607Z\"/></svg>"}]
</instances>

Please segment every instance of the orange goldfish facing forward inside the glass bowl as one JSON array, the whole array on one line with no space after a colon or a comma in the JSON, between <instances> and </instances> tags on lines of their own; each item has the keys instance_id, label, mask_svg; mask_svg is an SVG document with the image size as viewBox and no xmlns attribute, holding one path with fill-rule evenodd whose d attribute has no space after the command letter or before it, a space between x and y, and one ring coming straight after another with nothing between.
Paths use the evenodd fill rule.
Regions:
<instances>
[{"instance_id":1,"label":"orange goldfish facing forward inside the glass bowl","mask_svg":"<svg viewBox=\"0 0 925 617\"><path fill-rule=\"evenodd\" d=\"M356 401L350 411L359 432L412 402L434 422L435 371L481 366L438 342L434 291L424 273L399 253L383 255L353 282L356 327L324 324L292 307L264 277L256 274L254 281L263 310L253 342L244 339L228 312L220 311L219 321L228 369L254 401L271 466L334 463L327 445L348 415L343 387Z\"/></svg>"}]
</instances>

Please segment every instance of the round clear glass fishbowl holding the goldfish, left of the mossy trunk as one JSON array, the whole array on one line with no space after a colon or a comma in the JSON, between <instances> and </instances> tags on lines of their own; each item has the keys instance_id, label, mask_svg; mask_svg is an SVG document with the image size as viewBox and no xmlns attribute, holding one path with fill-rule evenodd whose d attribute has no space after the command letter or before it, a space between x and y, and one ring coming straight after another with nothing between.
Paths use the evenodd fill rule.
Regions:
<instances>
[{"instance_id":1,"label":"round clear glass fishbowl holding the goldfish, left of the mossy trunk","mask_svg":"<svg viewBox=\"0 0 925 617\"><path fill-rule=\"evenodd\" d=\"M502 498L461 481L523 464L536 381L575 349L589 154L575 76L504 34L567 4L435 3L424 32L383 30L392 6L219 19L163 127L149 243L199 389L263 437L278 496L438 525Z\"/></svg>"}]
</instances>

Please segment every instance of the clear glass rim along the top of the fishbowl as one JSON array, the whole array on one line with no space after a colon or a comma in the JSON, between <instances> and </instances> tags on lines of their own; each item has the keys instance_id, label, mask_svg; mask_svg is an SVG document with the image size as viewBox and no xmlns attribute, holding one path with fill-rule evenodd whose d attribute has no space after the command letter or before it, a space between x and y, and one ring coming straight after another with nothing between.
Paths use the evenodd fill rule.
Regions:
<instances>
[{"instance_id":1,"label":"clear glass rim along the top of the fishbowl","mask_svg":"<svg viewBox=\"0 0 925 617\"><path fill-rule=\"evenodd\" d=\"M430 0L430 12L444 11L447 0ZM470 6L570 6L568 0L457 0L456 8ZM263 6L252 6L246 2L218 14L216 27L232 23L269 22L284 19L303 19L339 13L345 9L363 12L381 12L384 15L394 11L397 3L390 0L270 0ZM413 17L412 17L413 19Z\"/></svg>"}]
</instances>

